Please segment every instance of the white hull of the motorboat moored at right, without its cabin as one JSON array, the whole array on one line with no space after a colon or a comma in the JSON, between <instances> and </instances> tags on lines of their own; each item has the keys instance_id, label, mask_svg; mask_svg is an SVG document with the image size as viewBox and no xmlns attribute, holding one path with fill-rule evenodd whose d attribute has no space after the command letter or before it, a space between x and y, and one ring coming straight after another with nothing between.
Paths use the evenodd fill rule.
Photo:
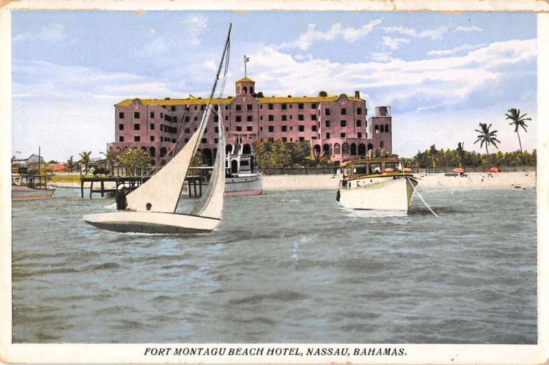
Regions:
<instances>
[{"instance_id":1,"label":"white hull of the motorboat moored at right, without its cabin","mask_svg":"<svg viewBox=\"0 0 549 365\"><path fill-rule=\"evenodd\" d=\"M339 189L340 204L349 209L408 211L417 180L414 178L363 178Z\"/></svg>"}]
</instances>

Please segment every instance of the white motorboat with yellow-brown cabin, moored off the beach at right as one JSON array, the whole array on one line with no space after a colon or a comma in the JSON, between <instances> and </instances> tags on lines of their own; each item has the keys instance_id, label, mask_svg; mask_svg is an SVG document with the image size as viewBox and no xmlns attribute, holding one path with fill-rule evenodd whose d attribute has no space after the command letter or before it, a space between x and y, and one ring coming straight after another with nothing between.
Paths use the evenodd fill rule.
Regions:
<instances>
[{"instance_id":1,"label":"white motorboat with yellow-brown cabin, moored off the beach at right","mask_svg":"<svg viewBox=\"0 0 549 365\"><path fill-rule=\"evenodd\" d=\"M408 211L417 180L397 158L370 158L343 165L337 193L342 207Z\"/></svg>"}]
</instances>

